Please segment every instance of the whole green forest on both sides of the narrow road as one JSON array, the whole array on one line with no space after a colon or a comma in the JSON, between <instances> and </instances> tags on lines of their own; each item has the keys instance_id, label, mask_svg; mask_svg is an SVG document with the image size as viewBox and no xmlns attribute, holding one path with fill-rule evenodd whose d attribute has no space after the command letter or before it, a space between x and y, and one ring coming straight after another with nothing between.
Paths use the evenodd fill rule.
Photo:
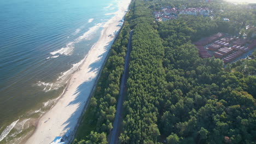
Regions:
<instances>
[{"instance_id":1,"label":"whole green forest on both sides of the narrow road","mask_svg":"<svg viewBox=\"0 0 256 144\"><path fill-rule=\"evenodd\" d=\"M208 7L215 19L181 16L155 22L153 11L164 5ZM192 44L256 25L256 10L243 7L220 0L132 1L73 144L108 143L131 29L119 143L255 143L256 52L224 67L220 59L200 58Z\"/></svg>"}]
</instances>

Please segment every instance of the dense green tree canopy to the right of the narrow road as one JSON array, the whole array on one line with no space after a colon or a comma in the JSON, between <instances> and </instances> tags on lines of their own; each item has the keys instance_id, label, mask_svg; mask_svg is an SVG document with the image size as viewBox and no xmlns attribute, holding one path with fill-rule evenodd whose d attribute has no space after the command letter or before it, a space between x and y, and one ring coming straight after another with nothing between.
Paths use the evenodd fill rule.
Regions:
<instances>
[{"instance_id":1,"label":"dense green tree canopy to the right of the narrow road","mask_svg":"<svg viewBox=\"0 0 256 144\"><path fill-rule=\"evenodd\" d=\"M200 16L150 23L143 16L152 12L145 7L149 3L133 3L133 13L143 13L133 17L127 112L119 142L255 141L255 60L237 63L233 67L239 72L234 72L224 69L220 59L200 58L191 41L222 32L224 24Z\"/></svg>"}]
</instances>

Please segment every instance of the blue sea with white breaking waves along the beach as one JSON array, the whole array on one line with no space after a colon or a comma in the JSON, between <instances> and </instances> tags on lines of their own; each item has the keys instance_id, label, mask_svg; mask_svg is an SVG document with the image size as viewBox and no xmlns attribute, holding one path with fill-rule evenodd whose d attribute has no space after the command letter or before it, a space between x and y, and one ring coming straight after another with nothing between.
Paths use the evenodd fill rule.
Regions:
<instances>
[{"instance_id":1,"label":"blue sea with white breaking waves along the beach","mask_svg":"<svg viewBox=\"0 0 256 144\"><path fill-rule=\"evenodd\" d=\"M34 129L100 38L117 3L0 2L0 143L17 143Z\"/></svg>"}]
</instances>

